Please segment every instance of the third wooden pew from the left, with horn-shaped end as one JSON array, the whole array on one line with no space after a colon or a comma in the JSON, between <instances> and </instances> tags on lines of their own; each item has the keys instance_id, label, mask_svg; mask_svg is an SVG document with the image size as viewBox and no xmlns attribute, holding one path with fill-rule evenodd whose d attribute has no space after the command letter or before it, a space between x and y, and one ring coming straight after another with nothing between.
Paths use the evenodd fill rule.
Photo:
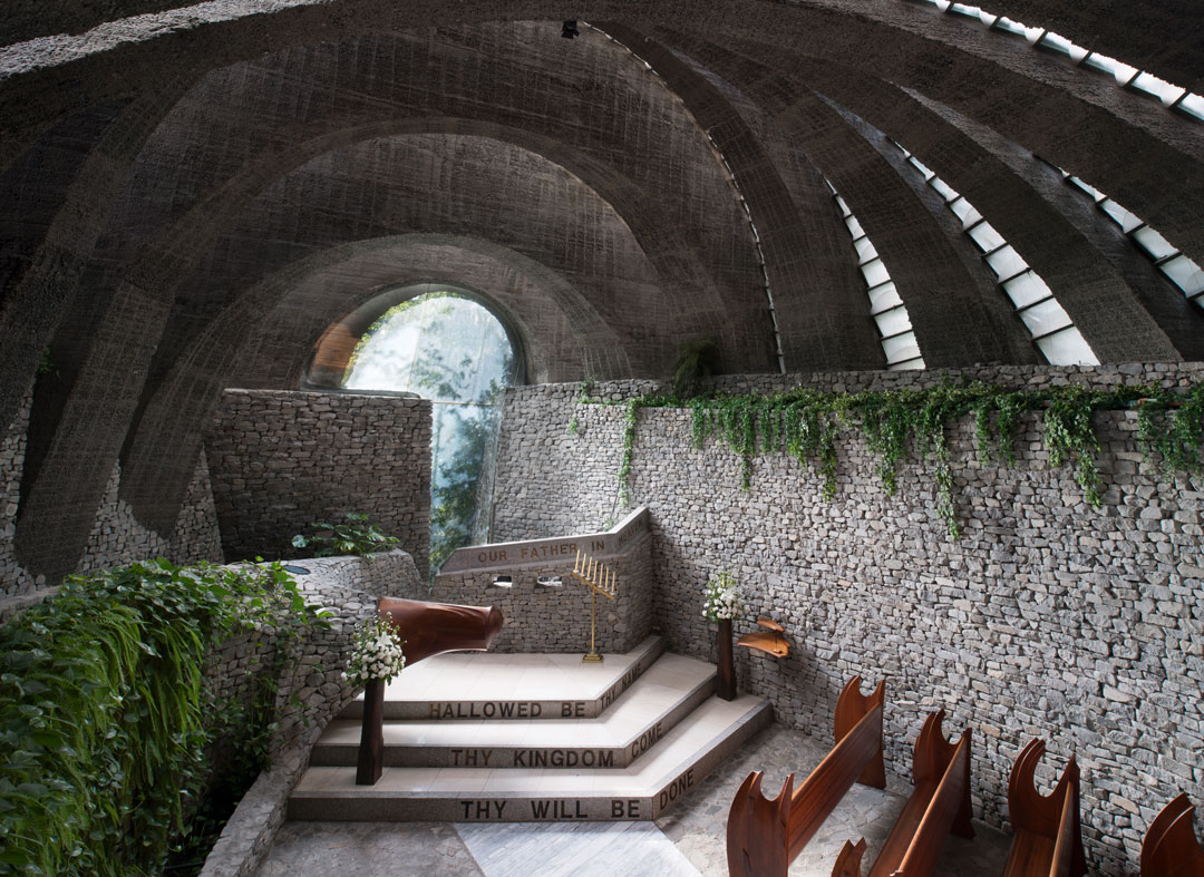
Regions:
<instances>
[{"instance_id":1,"label":"third wooden pew from the left, with horn-shaped end","mask_svg":"<svg viewBox=\"0 0 1204 877\"><path fill-rule=\"evenodd\" d=\"M1003 877L1082 877L1082 826L1079 823L1079 765L1070 760L1049 798L1037 790L1037 763L1045 741L1033 740L1016 757L1008 780L1008 812L1015 836Z\"/></svg>"}]
</instances>

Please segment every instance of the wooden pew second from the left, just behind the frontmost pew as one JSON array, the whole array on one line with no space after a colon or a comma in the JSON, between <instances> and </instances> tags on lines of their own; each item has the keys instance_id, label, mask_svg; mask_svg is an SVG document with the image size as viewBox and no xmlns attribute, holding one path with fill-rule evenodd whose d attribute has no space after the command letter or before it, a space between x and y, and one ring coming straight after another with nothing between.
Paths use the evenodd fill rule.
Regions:
<instances>
[{"instance_id":1,"label":"wooden pew second from the left, just behind the frontmost pew","mask_svg":"<svg viewBox=\"0 0 1204 877\"><path fill-rule=\"evenodd\" d=\"M940 857L950 829L973 837L970 825L970 729L956 743L945 740L940 723L945 711L925 719L915 741L911 775L915 789L878 854L869 877L925 877ZM866 839L844 842L832 869L832 877L861 877Z\"/></svg>"}]
</instances>

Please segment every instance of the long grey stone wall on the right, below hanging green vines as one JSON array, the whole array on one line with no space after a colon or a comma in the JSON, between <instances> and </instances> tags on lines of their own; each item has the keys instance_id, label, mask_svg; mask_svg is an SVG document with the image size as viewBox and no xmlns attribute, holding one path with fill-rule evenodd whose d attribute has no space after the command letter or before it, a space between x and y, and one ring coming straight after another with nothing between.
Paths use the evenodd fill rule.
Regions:
<instances>
[{"instance_id":1,"label":"long grey stone wall on the right, below hanging green vines","mask_svg":"<svg viewBox=\"0 0 1204 877\"><path fill-rule=\"evenodd\" d=\"M1129 365L808 383L1181 386L1200 374L1199 363ZM773 390L799 380L743 383ZM618 384L601 391L622 395ZM613 514L624 409L580 405L576 395L568 385L508 395L495 516L503 538L526 533L530 521L571 529ZM973 729L975 816L993 825L1008 823L1015 755L1043 736L1045 788L1072 752L1082 768L1092 870L1134 872L1162 806L1181 789L1204 798L1204 478L1173 479L1146 463L1135 413L1099 414L1096 427L1108 486L1098 509L1068 468L1049 466L1039 419L1022 425L1013 468L976 462L973 423L951 428L962 537L950 541L931 464L901 462L889 497L860 432L842 433L837 496L825 502L816 475L786 455L756 457L743 492L736 455L712 440L691 448L687 410L643 410L630 492L651 510L657 622L674 651L713 657L701 592L716 570L733 571L748 602L736 633L766 615L791 642L783 660L737 650L742 687L771 698L779 719L827 737L843 683L854 674L867 686L885 677L892 770L910 772L923 715L944 707L950 734Z\"/></svg>"}]
</instances>

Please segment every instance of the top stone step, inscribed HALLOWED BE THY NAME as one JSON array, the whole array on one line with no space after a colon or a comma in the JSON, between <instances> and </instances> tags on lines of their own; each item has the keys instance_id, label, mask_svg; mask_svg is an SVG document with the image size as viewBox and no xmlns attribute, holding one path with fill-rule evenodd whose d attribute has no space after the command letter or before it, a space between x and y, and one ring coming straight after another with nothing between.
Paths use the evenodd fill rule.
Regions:
<instances>
[{"instance_id":1,"label":"top stone step, inscribed HALLOWED BE THY NAME","mask_svg":"<svg viewBox=\"0 0 1204 877\"><path fill-rule=\"evenodd\" d=\"M386 719L543 719L595 718L665 652L661 636L632 651L583 664L572 654L453 652L407 666L384 694ZM455 693L454 698L441 697ZM364 715L360 695L340 713Z\"/></svg>"}]
</instances>

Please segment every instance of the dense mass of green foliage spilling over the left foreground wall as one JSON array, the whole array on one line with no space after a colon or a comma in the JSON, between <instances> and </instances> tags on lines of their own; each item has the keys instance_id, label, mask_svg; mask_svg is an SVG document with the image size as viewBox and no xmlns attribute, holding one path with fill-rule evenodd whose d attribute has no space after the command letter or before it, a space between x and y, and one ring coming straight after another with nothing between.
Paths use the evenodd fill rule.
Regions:
<instances>
[{"instance_id":1,"label":"dense mass of green foliage spilling over the left foreground wall","mask_svg":"<svg viewBox=\"0 0 1204 877\"><path fill-rule=\"evenodd\" d=\"M191 830L206 747L246 722L206 683L209 654L311 623L279 564L159 559L71 577L0 627L0 873L160 873Z\"/></svg>"}]
</instances>

